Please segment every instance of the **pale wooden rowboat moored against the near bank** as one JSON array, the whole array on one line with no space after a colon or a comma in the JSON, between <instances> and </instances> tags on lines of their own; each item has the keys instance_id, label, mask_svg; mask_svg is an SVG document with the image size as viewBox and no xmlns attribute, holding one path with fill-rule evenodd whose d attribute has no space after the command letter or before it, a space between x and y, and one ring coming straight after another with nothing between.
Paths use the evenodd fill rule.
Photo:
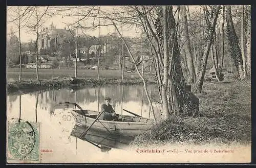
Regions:
<instances>
[{"instance_id":1,"label":"pale wooden rowboat moored against the near bank","mask_svg":"<svg viewBox=\"0 0 256 168\"><path fill-rule=\"evenodd\" d=\"M117 121L104 121L96 119L99 112L93 110L72 110L71 114L75 118L76 125L84 129L91 126L92 130L119 135L135 136L150 129L155 123L152 118L131 115L119 115Z\"/></svg>"}]
</instances>

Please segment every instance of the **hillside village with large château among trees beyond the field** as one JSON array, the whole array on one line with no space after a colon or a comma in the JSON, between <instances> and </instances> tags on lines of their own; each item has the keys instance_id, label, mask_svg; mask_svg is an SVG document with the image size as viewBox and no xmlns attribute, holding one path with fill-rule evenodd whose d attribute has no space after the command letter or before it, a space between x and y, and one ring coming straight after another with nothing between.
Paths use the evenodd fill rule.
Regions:
<instances>
[{"instance_id":1,"label":"hillside village with large ch\u00e2teau among trees beyond the field","mask_svg":"<svg viewBox=\"0 0 256 168\"><path fill-rule=\"evenodd\" d=\"M142 58L145 67L151 64L148 47L143 46L143 51L141 51L141 46L145 44L141 44L139 38L125 38L137 58L137 64L141 63ZM12 48L17 46L17 42L18 38L13 35L12 41L10 40ZM79 35L77 52L78 69L89 69L95 66L98 61L99 39L95 36ZM116 32L100 37L100 65L102 69L120 68L121 52L121 38L117 36ZM22 43L22 56L24 67L36 68L36 44L34 41ZM16 62L15 60L11 61L14 58L10 57L16 57ZM76 36L74 31L66 28L57 29L53 22L49 28L41 29L38 38L38 68L74 68L75 61ZM135 70L125 47L123 47L123 61L124 70ZM15 56L9 55L9 67L16 67L18 66L17 63L18 53Z\"/></svg>"}]
</instances>

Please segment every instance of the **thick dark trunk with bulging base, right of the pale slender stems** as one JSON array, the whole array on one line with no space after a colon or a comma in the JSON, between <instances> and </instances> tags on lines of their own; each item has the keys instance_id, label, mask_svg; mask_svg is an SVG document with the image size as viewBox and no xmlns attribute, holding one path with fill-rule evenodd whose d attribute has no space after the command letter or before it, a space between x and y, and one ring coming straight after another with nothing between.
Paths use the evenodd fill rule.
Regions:
<instances>
[{"instance_id":1,"label":"thick dark trunk with bulging base, right of the pale slender stems","mask_svg":"<svg viewBox=\"0 0 256 168\"><path fill-rule=\"evenodd\" d=\"M175 30L175 19L172 15L172 11L170 10L169 15L169 25L172 34L172 51L170 52L171 60L169 68L169 88L171 94L169 95L170 100L173 102L171 105L173 106L173 112L175 115L179 115L180 113L190 116L198 116L199 114L199 99L191 93L191 89L187 90L185 78L183 76L183 69L181 68L181 60L180 60L180 51L177 42L177 33L178 30ZM179 22L179 21L177 21ZM169 45L170 46L170 45Z\"/></svg>"}]
</instances>

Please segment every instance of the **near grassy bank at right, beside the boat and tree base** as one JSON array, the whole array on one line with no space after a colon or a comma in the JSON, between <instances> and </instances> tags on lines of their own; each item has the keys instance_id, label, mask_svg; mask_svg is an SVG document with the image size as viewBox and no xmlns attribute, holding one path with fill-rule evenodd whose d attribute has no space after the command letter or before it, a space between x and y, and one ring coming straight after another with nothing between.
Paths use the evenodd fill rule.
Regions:
<instances>
[{"instance_id":1,"label":"near grassy bank at right, beside the boat and tree base","mask_svg":"<svg viewBox=\"0 0 256 168\"><path fill-rule=\"evenodd\" d=\"M159 123L138 135L131 146L250 142L250 81L204 83L203 90L197 95L200 99L200 117L179 116Z\"/></svg>"}]
</instances>

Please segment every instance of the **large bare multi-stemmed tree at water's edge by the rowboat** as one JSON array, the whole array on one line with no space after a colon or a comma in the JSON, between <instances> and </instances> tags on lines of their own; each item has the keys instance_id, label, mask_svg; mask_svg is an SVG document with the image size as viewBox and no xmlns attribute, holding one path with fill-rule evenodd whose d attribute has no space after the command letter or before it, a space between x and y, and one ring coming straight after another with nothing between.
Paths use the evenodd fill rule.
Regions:
<instances>
[{"instance_id":1,"label":"large bare multi-stemmed tree at water's edge by the rowboat","mask_svg":"<svg viewBox=\"0 0 256 168\"><path fill-rule=\"evenodd\" d=\"M163 119L167 119L171 115L186 113L187 111L184 111L183 107L186 106L186 101L189 99L189 93L185 89L186 83L180 65L181 57L177 42L179 19L176 23L173 6L167 6L167 49L166 43L164 42L164 39L166 38L166 32L164 30L164 21L166 19L164 14L166 13L163 12L164 7L136 6L132 7L132 9L139 14L141 26L152 47L153 59L156 64L156 79L160 87L159 95L163 107ZM177 17L179 18L179 12ZM167 52L168 56L167 61L165 59L165 52ZM167 62L168 65L166 65ZM166 68L168 69L167 76L165 73ZM167 78L167 84L165 77ZM165 89L166 92L164 92Z\"/></svg>"}]
</instances>

